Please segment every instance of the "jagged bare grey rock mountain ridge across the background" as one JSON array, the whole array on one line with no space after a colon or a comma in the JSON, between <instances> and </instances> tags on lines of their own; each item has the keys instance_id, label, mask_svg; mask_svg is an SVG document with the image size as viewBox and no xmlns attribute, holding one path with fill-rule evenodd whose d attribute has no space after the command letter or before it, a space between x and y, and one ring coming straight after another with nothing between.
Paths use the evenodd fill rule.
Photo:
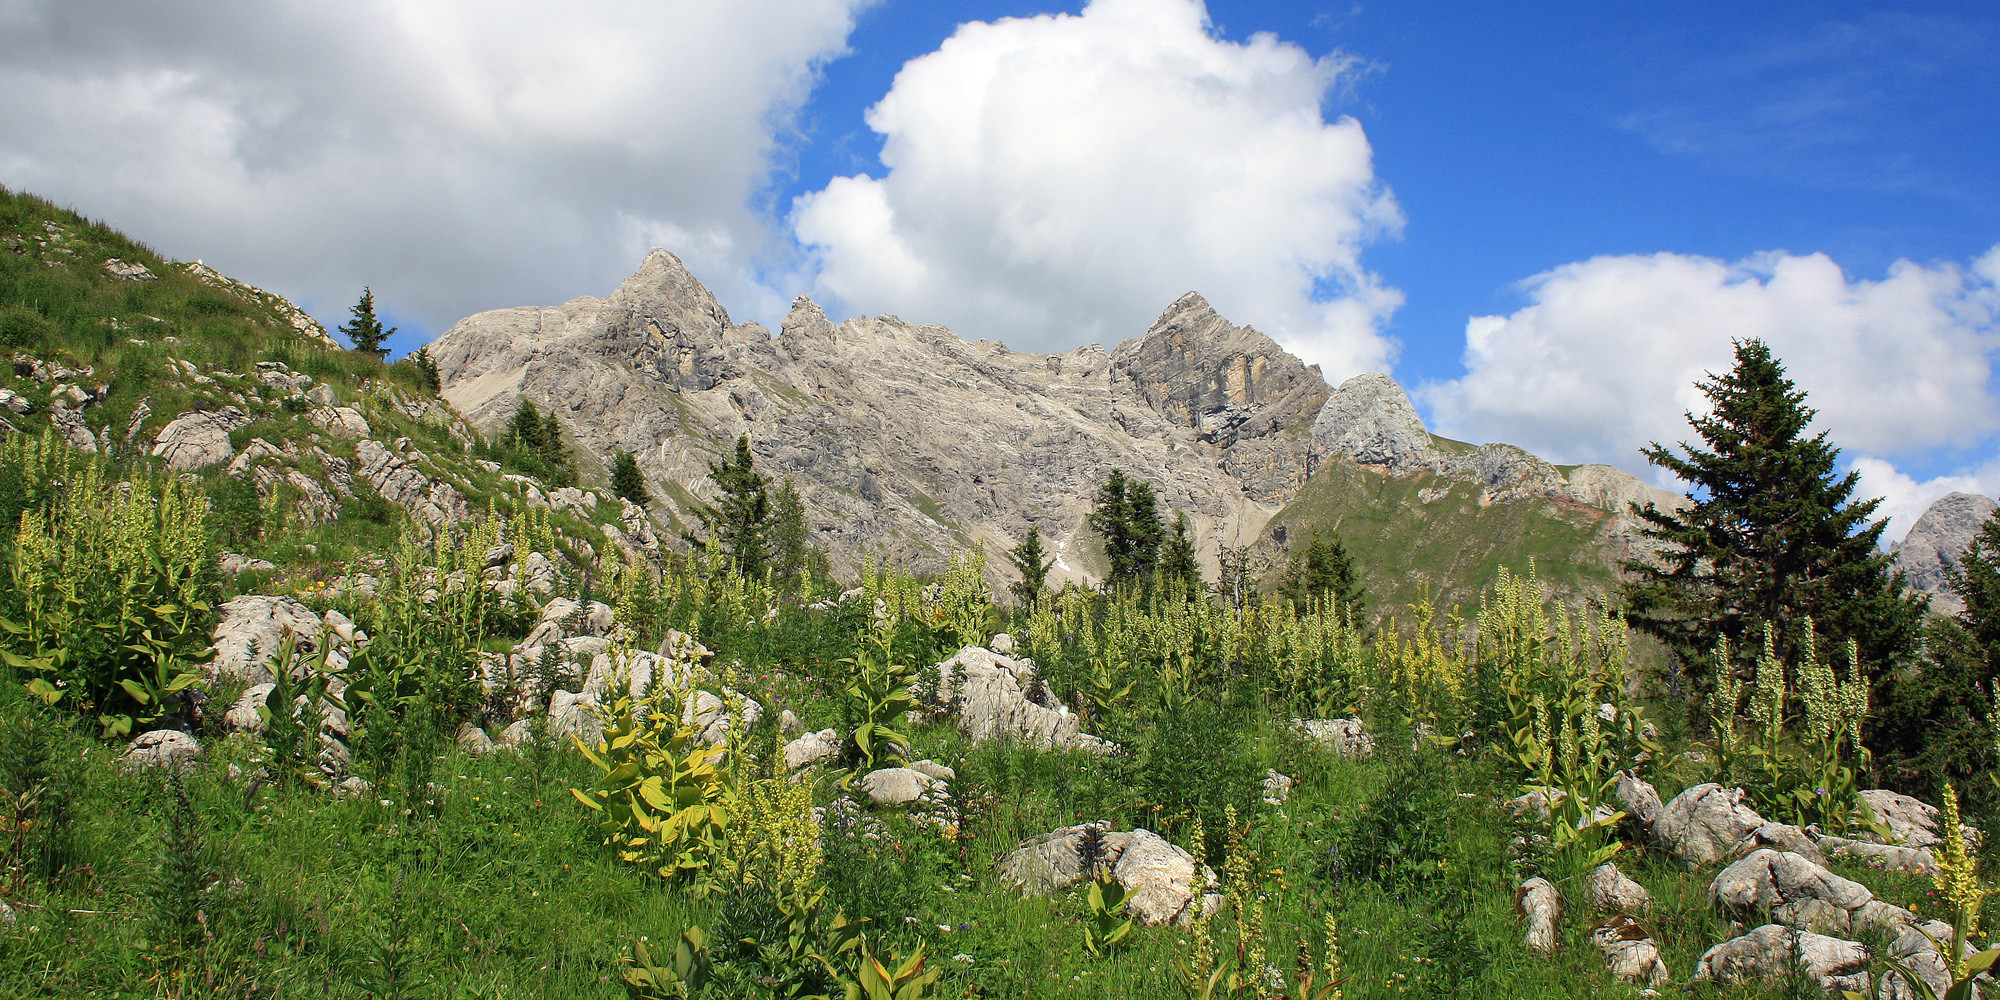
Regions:
<instances>
[{"instance_id":1,"label":"jagged bare grey rock mountain ridge across the background","mask_svg":"<svg viewBox=\"0 0 2000 1000\"><path fill-rule=\"evenodd\" d=\"M998 552L1034 526L1056 578L1094 580L1084 518L1110 468L1186 510L1210 568L1220 546L1270 546L1272 518L1326 462L1468 482L1484 506L1590 506L1606 532L1626 500L1678 502L1608 466L1564 472L1432 438L1388 376L1330 388L1192 292L1110 352L1016 352L896 316L834 324L804 296L770 336L732 324L654 250L606 298L468 316L430 352L446 400L480 426L528 396L596 462L632 452L668 520L712 496L708 462L748 434L758 468L798 484L840 568L870 554L936 564L972 540Z\"/></svg>"}]
</instances>

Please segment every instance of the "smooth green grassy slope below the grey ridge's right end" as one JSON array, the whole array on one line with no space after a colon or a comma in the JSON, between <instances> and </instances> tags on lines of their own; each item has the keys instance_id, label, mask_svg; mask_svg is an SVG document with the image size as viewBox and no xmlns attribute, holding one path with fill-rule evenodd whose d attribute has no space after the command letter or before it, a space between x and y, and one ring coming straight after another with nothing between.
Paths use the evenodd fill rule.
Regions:
<instances>
[{"instance_id":1,"label":"smooth green grassy slope below the grey ridge's right end","mask_svg":"<svg viewBox=\"0 0 2000 1000\"><path fill-rule=\"evenodd\" d=\"M1450 492L1424 504L1418 492ZM1378 610L1396 610L1430 588L1434 600L1476 606L1498 568L1536 572L1556 592L1606 596L1618 574L1598 540L1608 518L1584 504L1502 500L1480 506L1480 488L1430 474L1394 478L1330 460L1264 528L1260 548L1276 552L1276 532L1302 546L1314 530L1338 530Z\"/></svg>"}]
</instances>

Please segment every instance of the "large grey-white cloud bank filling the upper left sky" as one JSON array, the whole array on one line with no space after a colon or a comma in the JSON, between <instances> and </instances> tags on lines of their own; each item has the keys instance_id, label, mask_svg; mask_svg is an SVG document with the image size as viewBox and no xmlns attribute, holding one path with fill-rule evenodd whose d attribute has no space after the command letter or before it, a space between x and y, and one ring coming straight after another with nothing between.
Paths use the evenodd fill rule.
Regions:
<instances>
[{"instance_id":1,"label":"large grey-white cloud bank filling the upper left sky","mask_svg":"<svg viewBox=\"0 0 2000 1000\"><path fill-rule=\"evenodd\" d=\"M442 332L654 244L744 302L776 136L866 2L0 0L0 182L322 320L366 282Z\"/></svg>"}]
</instances>

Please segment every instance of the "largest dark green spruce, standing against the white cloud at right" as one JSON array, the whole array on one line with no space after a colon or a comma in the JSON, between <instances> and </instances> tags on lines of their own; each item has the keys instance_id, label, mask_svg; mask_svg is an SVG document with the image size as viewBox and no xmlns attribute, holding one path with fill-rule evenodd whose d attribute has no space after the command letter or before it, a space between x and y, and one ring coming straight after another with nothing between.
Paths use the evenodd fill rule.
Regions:
<instances>
[{"instance_id":1,"label":"largest dark green spruce, standing against the white cloud at right","mask_svg":"<svg viewBox=\"0 0 2000 1000\"><path fill-rule=\"evenodd\" d=\"M1790 660L1808 616L1828 640L1820 648L1856 640L1872 676L1906 664L1924 600L1876 548L1880 500L1854 500L1858 474L1834 472L1840 450L1824 432L1806 436L1806 394L1762 340L1736 342L1736 366L1698 388L1712 410L1688 422L1706 448L1642 450L1690 490L1680 510L1632 508L1658 548L1658 560L1626 562L1632 624L1668 646L1690 694L1706 690L1718 638L1748 662L1768 624Z\"/></svg>"}]
</instances>

